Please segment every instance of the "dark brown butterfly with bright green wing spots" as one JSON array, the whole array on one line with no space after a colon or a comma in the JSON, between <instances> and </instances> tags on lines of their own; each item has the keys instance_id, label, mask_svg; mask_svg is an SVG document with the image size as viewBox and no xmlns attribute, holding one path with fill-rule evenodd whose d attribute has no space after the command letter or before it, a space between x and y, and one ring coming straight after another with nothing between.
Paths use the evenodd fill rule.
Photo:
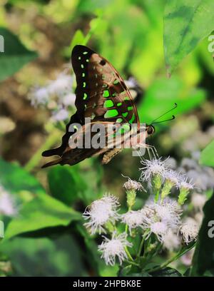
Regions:
<instances>
[{"instance_id":1,"label":"dark brown butterfly with bright green wing spots","mask_svg":"<svg viewBox=\"0 0 214 291\"><path fill-rule=\"evenodd\" d=\"M102 163L106 164L122 150L123 144L120 148L117 146L110 148L108 145L103 148L71 148L69 144L71 138L75 136L78 140L80 136L85 137L91 130L85 118L91 118L91 124L102 125L105 128L115 123L120 125L123 143L133 123L137 124L136 135L140 135L138 111L131 93L111 63L91 48L81 45L74 46L71 63L76 75L76 113L71 116L71 120L66 125L66 133L62 138L61 146L42 153L44 157L59 156L56 160L46 163L43 168L56 164L75 165L96 155L102 155ZM71 125L74 123L80 124L81 129L71 132ZM115 131L118 129L116 128ZM155 128L152 125L146 125L145 138L151 136L154 131Z\"/></svg>"}]
</instances>

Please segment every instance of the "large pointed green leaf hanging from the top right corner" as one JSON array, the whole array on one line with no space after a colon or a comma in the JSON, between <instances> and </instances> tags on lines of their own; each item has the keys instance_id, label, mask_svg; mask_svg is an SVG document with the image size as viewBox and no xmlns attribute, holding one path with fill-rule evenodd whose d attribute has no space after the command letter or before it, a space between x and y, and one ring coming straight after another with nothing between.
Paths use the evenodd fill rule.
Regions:
<instances>
[{"instance_id":1,"label":"large pointed green leaf hanging from the top right corner","mask_svg":"<svg viewBox=\"0 0 214 291\"><path fill-rule=\"evenodd\" d=\"M165 64L169 74L202 39L213 31L213 14L213 0L166 2L163 43Z\"/></svg>"}]
</instances>

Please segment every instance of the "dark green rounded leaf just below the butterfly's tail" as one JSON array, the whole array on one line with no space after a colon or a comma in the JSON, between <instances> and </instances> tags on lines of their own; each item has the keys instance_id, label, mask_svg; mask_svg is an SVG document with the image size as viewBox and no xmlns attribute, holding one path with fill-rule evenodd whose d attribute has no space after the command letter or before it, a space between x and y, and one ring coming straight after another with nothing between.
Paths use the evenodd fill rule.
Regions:
<instances>
[{"instance_id":1,"label":"dark green rounded leaf just below the butterfly's tail","mask_svg":"<svg viewBox=\"0 0 214 291\"><path fill-rule=\"evenodd\" d=\"M78 198L82 198L86 183L78 174L77 166L56 166L48 173L51 194L63 203L71 205Z\"/></svg>"}]
</instances>

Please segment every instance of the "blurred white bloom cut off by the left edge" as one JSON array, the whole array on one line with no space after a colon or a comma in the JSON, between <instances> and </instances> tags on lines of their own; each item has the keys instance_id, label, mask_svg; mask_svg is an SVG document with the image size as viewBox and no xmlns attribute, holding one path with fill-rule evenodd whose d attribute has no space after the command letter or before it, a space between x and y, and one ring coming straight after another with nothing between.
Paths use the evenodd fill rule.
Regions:
<instances>
[{"instance_id":1,"label":"blurred white bloom cut off by the left edge","mask_svg":"<svg viewBox=\"0 0 214 291\"><path fill-rule=\"evenodd\" d=\"M0 185L0 214L14 216L17 209L12 196Z\"/></svg>"}]
</instances>

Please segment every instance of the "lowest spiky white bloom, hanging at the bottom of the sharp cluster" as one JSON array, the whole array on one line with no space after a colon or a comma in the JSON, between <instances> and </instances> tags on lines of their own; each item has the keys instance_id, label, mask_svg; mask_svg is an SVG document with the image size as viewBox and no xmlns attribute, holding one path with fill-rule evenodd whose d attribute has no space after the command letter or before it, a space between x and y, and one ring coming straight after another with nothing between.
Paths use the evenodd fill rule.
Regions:
<instances>
[{"instance_id":1,"label":"lowest spiky white bloom, hanging at the bottom of the sharp cluster","mask_svg":"<svg viewBox=\"0 0 214 291\"><path fill-rule=\"evenodd\" d=\"M126 255L125 247L131 247L131 242L128 242L127 234L121 233L116 235L113 233L113 236L110 239L103 237L104 241L101 245L98 245L98 250L102 252L101 258L106 262L106 265L115 265L116 257L118 257L120 265L123 260L126 260L128 256Z\"/></svg>"}]
</instances>

